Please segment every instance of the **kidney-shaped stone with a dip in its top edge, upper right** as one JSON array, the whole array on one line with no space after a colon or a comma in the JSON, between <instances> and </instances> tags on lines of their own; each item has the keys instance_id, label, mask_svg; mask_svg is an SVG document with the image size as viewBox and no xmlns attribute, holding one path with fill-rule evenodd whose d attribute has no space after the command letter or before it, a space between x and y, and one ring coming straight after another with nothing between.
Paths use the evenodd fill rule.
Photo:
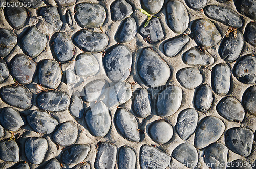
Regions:
<instances>
[{"instance_id":1,"label":"kidney-shaped stone with a dip in its top edge, upper right","mask_svg":"<svg viewBox=\"0 0 256 169\"><path fill-rule=\"evenodd\" d=\"M214 64L214 57L212 57L208 52L202 52L192 47L182 55L182 60L185 64L193 66L208 67Z\"/></svg>"}]
</instances>

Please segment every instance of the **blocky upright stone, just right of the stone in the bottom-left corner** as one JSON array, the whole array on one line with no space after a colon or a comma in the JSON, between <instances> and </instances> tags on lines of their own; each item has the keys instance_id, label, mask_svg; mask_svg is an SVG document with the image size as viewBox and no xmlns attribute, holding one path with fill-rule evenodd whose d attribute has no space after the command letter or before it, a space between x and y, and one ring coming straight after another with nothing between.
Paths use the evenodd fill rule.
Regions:
<instances>
[{"instance_id":1,"label":"blocky upright stone, just right of the stone in the bottom-left corner","mask_svg":"<svg viewBox=\"0 0 256 169\"><path fill-rule=\"evenodd\" d=\"M40 164L44 161L48 150L48 142L42 137L30 137L25 142L25 154L33 164Z\"/></svg>"}]
</instances>

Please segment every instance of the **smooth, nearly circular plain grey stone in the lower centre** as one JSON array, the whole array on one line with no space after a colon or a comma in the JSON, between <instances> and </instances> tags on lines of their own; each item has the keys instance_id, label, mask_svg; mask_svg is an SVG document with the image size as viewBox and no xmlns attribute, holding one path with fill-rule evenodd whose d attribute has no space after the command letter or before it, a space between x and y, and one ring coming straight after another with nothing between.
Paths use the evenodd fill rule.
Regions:
<instances>
[{"instance_id":1,"label":"smooth, nearly circular plain grey stone in the lower centre","mask_svg":"<svg viewBox=\"0 0 256 169\"><path fill-rule=\"evenodd\" d=\"M155 121L150 124L148 134L154 142L165 144L173 137L173 127L166 121Z\"/></svg>"}]
</instances>

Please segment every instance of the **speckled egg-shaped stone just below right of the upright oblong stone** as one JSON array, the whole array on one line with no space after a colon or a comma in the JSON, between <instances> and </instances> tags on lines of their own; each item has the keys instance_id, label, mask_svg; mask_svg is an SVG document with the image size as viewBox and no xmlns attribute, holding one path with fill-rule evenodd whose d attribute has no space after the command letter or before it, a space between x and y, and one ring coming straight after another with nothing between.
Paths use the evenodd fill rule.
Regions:
<instances>
[{"instance_id":1,"label":"speckled egg-shaped stone just below right of the upright oblong stone","mask_svg":"<svg viewBox=\"0 0 256 169\"><path fill-rule=\"evenodd\" d=\"M222 98L216 105L217 112L230 121L242 122L245 116L241 103L232 97Z\"/></svg>"}]
</instances>

